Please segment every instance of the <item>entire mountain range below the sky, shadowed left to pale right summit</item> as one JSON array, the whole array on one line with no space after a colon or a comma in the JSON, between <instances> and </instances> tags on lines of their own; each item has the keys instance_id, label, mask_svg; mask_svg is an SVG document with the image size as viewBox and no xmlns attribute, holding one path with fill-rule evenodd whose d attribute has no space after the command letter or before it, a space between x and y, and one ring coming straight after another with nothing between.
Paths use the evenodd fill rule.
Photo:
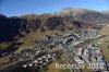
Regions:
<instances>
[{"instance_id":1,"label":"entire mountain range below the sky, shadowed left to pale right summit","mask_svg":"<svg viewBox=\"0 0 109 72\"><path fill-rule=\"evenodd\" d=\"M13 40L33 32L80 29L109 23L105 14L87 9L63 9L51 14L26 14L7 17L0 14L0 41Z\"/></svg>"}]
</instances>

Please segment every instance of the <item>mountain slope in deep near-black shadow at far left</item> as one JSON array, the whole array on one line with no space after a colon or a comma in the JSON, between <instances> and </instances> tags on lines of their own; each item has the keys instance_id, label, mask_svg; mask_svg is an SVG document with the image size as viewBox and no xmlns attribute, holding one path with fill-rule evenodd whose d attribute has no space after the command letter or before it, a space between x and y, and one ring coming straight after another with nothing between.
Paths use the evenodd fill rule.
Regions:
<instances>
[{"instance_id":1,"label":"mountain slope in deep near-black shadow at far left","mask_svg":"<svg viewBox=\"0 0 109 72\"><path fill-rule=\"evenodd\" d=\"M7 17L0 14L0 41L11 39L13 36L19 34L20 29L19 17Z\"/></svg>"}]
</instances>

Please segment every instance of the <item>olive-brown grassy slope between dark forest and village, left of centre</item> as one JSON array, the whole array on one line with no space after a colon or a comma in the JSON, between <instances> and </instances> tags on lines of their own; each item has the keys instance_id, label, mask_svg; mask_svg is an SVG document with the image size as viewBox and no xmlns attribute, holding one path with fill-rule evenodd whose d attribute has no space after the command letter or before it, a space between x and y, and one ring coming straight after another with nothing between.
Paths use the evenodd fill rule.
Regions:
<instances>
[{"instance_id":1,"label":"olive-brown grassy slope between dark forest and village, left of centre","mask_svg":"<svg viewBox=\"0 0 109 72\"><path fill-rule=\"evenodd\" d=\"M22 46L19 47L17 51L21 51L23 49L34 49L37 46L33 43L35 41L35 39L39 39L39 38L45 38L45 35L51 35L51 34L56 34L56 33L60 33L57 31L46 31L45 33L43 32L35 32L33 34L28 34L26 37L23 37L21 39L19 39L20 43L24 43Z\"/></svg>"}]
</instances>

